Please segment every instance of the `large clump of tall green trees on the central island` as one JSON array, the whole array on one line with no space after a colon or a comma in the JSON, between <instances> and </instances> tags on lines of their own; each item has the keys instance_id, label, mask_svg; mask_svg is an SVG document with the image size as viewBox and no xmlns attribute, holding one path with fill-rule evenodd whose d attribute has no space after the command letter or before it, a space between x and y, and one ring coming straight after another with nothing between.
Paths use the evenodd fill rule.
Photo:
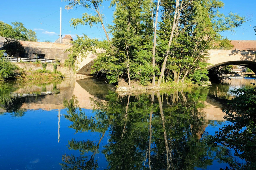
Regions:
<instances>
[{"instance_id":1,"label":"large clump of tall green trees on the central island","mask_svg":"<svg viewBox=\"0 0 256 170\"><path fill-rule=\"evenodd\" d=\"M113 25L106 26L101 13L103 1L65 1L68 10L84 7L95 12L71 19L71 25L101 27L106 37L99 41L78 36L68 49L71 54L65 65L76 70L78 58L102 49L92 73L105 74L109 83L124 80L128 86L131 81L141 85L151 82L152 86L168 81L207 82L207 50L220 42L221 32L233 30L246 20L232 12L224 15L219 11L224 3L216 0L112 0Z\"/></svg>"}]
</instances>

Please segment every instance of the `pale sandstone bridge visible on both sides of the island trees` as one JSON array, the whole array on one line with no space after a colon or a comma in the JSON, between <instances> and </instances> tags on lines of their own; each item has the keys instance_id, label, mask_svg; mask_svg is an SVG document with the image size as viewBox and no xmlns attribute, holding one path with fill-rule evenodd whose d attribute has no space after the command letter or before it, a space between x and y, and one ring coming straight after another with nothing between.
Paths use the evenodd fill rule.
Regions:
<instances>
[{"instance_id":1,"label":"pale sandstone bridge visible on both sides of the island trees","mask_svg":"<svg viewBox=\"0 0 256 170\"><path fill-rule=\"evenodd\" d=\"M0 37L0 45L1 45ZM5 40L5 39L4 39ZM68 57L68 53L65 52L67 48L71 47L71 44L59 44L50 42L29 42L20 41L24 46L29 57L36 58L37 55L44 55L47 59L60 60L61 63ZM256 73L256 41L247 40L232 40L231 44L234 46L232 50L225 49L210 49L208 63L211 68L224 65L241 65L246 66ZM96 52L102 52L97 49ZM94 63L94 59L97 58L97 54L89 53L85 59L82 59L77 65L77 74L90 75L91 67ZM80 58L78 58L80 60Z\"/></svg>"}]
</instances>

